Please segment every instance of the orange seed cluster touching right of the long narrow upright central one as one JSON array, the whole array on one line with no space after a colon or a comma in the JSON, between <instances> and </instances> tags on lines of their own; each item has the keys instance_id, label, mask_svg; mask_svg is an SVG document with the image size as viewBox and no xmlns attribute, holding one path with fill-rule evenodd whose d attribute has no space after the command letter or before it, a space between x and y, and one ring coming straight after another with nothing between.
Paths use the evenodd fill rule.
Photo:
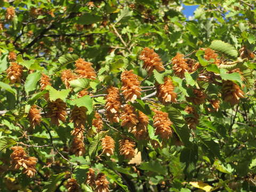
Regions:
<instances>
[{"instance_id":1,"label":"orange seed cluster touching right of the long narrow upright central one","mask_svg":"<svg viewBox=\"0 0 256 192\"><path fill-rule=\"evenodd\" d=\"M121 126L126 127L129 131L135 129L135 126L139 122L134 107L129 104L124 105L124 111L121 119L123 120Z\"/></svg>"}]
</instances>

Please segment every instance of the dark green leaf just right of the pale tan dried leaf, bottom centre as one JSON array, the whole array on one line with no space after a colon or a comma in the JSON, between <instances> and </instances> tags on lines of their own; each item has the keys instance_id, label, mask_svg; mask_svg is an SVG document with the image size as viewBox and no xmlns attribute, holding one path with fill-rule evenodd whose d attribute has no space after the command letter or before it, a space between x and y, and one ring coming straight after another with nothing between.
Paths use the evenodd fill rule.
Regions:
<instances>
[{"instance_id":1,"label":"dark green leaf just right of the pale tan dried leaf, bottom centre","mask_svg":"<svg viewBox=\"0 0 256 192\"><path fill-rule=\"evenodd\" d=\"M158 174L165 175L166 174L166 167L161 165L158 161L150 160L149 162L143 162L139 166L141 170L145 171L153 171Z\"/></svg>"}]
</instances>

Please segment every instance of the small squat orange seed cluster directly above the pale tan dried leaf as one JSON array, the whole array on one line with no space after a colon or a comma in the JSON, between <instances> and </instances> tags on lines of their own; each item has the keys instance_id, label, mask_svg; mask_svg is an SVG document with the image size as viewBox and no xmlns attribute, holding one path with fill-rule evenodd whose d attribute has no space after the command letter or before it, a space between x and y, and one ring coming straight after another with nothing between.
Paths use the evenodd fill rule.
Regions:
<instances>
[{"instance_id":1,"label":"small squat orange seed cluster directly above the pale tan dried leaf","mask_svg":"<svg viewBox=\"0 0 256 192\"><path fill-rule=\"evenodd\" d=\"M132 159L135 156L135 142L131 139L122 139L119 141L119 152L126 159Z\"/></svg>"}]
</instances>

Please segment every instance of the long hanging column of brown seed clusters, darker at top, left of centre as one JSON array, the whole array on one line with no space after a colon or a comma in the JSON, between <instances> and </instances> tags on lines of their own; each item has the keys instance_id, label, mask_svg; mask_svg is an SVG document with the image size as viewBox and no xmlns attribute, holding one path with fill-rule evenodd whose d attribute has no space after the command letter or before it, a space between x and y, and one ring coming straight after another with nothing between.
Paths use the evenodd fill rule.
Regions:
<instances>
[{"instance_id":1,"label":"long hanging column of brown seed clusters, darker at top, left of centre","mask_svg":"<svg viewBox=\"0 0 256 192\"><path fill-rule=\"evenodd\" d=\"M82 156L85 154L84 131L86 111L86 107L75 106L70 115L70 121L74 123L74 130L71 131L71 135L73 135L74 138L70 151L76 156Z\"/></svg>"}]
</instances>

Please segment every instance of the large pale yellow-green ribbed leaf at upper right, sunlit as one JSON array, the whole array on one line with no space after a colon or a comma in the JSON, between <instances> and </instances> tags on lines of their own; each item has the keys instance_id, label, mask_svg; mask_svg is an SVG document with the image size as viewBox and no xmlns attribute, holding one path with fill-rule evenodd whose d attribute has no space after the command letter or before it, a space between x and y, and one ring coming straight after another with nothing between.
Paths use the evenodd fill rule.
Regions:
<instances>
[{"instance_id":1,"label":"large pale yellow-green ribbed leaf at upper right, sunlit","mask_svg":"<svg viewBox=\"0 0 256 192\"><path fill-rule=\"evenodd\" d=\"M230 57L230 58L235 59L235 58L237 58L237 55L238 55L238 52L236 51L234 46L232 46L228 43L222 42L220 40L214 40L211 43L210 48L212 50L215 50L222 54L225 54L225 55L227 55L227 57Z\"/></svg>"}]
</instances>

